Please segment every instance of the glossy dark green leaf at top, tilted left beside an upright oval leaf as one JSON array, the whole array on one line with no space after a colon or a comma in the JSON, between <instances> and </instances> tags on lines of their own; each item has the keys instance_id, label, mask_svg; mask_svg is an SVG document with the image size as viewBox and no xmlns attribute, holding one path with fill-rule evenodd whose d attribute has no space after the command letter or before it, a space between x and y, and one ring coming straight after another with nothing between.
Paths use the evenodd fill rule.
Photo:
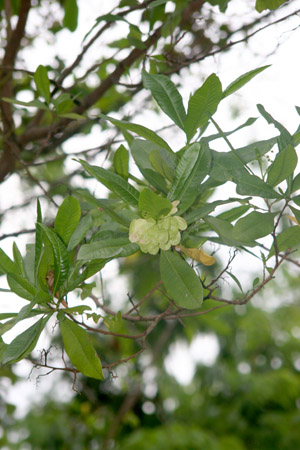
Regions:
<instances>
[{"instance_id":1,"label":"glossy dark green leaf at top, tilted left beside an upright oval leaf","mask_svg":"<svg viewBox=\"0 0 300 450\"><path fill-rule=\"evenodd\" d=\"M143 70L143 85L145 89L150 89L151 94L157 101L160 108L167 116L182 130L186 113L183 101L175 84L165 75L150 75Z\"/></svg>"}]
</instances>

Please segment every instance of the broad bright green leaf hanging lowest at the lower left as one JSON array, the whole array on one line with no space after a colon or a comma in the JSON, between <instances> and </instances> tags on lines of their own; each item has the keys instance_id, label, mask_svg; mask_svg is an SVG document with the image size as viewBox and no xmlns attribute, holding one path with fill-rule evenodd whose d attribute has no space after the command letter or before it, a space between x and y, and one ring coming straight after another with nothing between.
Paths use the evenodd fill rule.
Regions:
<instances>
[{"instance_id":1,"label":"broad bright green leaf hanging lowest at the lower left","mask_svg":"<svg viewBox=\"0 0 300 450\"><path fill-rule=\"evenodd\" d=\"M83 375L103 380L101 361L87 332L67 318L60 321L59 325L65 351L71 363Z\"/></svg>"}]
</instances>

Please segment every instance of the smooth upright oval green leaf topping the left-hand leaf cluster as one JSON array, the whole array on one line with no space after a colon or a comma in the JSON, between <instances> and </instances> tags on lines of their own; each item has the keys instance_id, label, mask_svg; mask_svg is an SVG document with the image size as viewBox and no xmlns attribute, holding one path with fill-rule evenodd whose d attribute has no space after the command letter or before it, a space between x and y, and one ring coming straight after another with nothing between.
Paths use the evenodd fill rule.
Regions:
<instances>
[{"instance_id":1,"label":"smooth upright oval green leaf topping the left-hand leaf cluster","mask_svg":"<svg viewBox=\"0 0 300 450\"><path fill-rule=\"evenodd\" d=\"M60 205L54 221L54 230L66 245L77 228L80 216L79 201L71 196L66 197Z\"/></svg>"}]
</instances>

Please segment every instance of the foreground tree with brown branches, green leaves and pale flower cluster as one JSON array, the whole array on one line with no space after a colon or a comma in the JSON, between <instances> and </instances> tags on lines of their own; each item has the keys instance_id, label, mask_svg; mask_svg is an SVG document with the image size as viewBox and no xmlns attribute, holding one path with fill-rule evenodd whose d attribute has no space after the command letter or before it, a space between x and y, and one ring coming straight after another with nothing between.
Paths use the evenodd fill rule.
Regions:
<instances>
[{"instance_id":1,"label":"foreground tree with brown branches, green leaves and pale flower cluster","mask_svg":"<svg viewBox=\"0 0 300 450\"><path fill-rule=\"evenodd\" d=\"M43 14L46 2L31 6L24 0L2 7L6 45L1 64L0 180L17 175L31 186L31 200L36 197L37 202L36 219L32 219L36 221L35 241L27 245L25 256L17 244L13 259L0 252L7 291L27 302L18 313L1 314L1 334L20 321L33 319L10 343L1 340L4 365L27 358L35 367L72 373L74 386L78 373L102 380L103 368L113 376L114 367L146 350L150 334L162 336L166 323L192 321L227 305L244 305L283 263L299 266L294 256L300 241L300 175L296 174L295 151L299 129L291 133L258 105L260 115L279 134L234 148L230 136L251 126L254 119L224 132L214 117L223 100L268 66L239 74L226 88L215 73L210 74L191 92L187 107L180 94L181 81L176 86L171 79L173 74L180 79L183 69L249 40L258 33L257 23L265 23L270 13L255 16L252 23L245 21L238 30L244 34L239 40L232 39L236 31L224 15L215 43L205 33L215 19L211 5L217 4L225 13L229 2L181 0L174 2L172 13L165 9L166 3L122 0L87 30L82 51L72 64L56 56L34 72L18 64L23 64L22 52L37 39L25 32L28 15ZM276 9L282 3L260 0L256 9ZM62 27L75 31L78 19L76 1L66 0L62 8L63 25L51 14L46 21L58 42ZM137 21L134 12L139 12ZM199 14L204 17L200 24ZM93 43L123 22L128 27L126 38L109 41L108 49L115 50L103 51L100 61L84 66L83 58ZM97 76L96 87L89 80L92 72ZM31 92L30 101L22 99L25 91ZM150 93L150 102L154 99L168 116L174 133L185 137L177 152L160 133L132 120L134 97L143 92ZM148 105L145 94L141 97L143 105ZM107 139L97 148L76 153L85 159L76 159L76 169L70 172L64 164L67 141L79 133L88 134L99 123ZM214 134L208 134L209 124L215 127ZM223 139L229 151L214 150L216 139ZM109 160L105 168L98 163L102 152ZM139 169L138 175L131 173L130 161ZM78 175L85 183L76 182ZM108 197L93 195L88 180L105 186ZM218 198L218 188L228 181L235 185L236 196ZM210 201L212 194L217 200ZM219 213L219 206L226 209ZM2 238L8 236L12 234ZM267 236L269 240L260 241ZM211 254L218 246L232 249L225 264ZM231 272L231 263L241 252L251 254L263 267L250 288L243 287ZM120 261L124 272L130 266L133 279L140 273L144 281L139 288L133 285L134 294L128 294L120 310L109 294L96 295L94 282L87 282L114 260ZM234 298L223 295L225 275L240 290ZM78 301L69 306L68 297L74 291L80 292L81 299L91 299L93 308ZM40 359L31 355L49 321L54 321L55 329L59 326L59 336L53 339L63 345L70 362L57 363L55 356L52 362L51 349L44 350ZM154 353L159 352L157 339Z\"/></svg>"}]
</instances>

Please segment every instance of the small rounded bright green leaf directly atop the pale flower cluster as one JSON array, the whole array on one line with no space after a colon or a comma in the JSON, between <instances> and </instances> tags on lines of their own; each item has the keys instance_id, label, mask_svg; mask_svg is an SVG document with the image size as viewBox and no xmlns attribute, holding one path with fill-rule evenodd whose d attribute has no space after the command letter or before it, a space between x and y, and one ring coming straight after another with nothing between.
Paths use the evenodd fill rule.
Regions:
<instances>
[{"instance_id":1,"label":"small rounded bright green leaf directly atop the pale flower cluster","mask_svg":"<svg viewBox=\"0 0 300 450\"><path fill-rule=\"evenodd\" d=\"M143 189L139 198L139 211L144 219L152 217L159 219L161 216L166 216L172 209L172 203L159 195L155 194L150 189Z\"/></svg>"}]
</instances>

